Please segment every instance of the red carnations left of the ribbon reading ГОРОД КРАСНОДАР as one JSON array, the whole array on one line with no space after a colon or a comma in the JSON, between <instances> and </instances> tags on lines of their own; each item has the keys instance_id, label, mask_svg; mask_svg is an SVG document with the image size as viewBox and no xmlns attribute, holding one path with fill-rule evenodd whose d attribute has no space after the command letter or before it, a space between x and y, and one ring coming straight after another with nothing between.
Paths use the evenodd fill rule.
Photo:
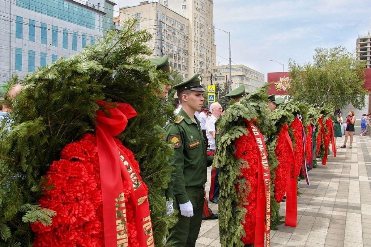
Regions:
<instances>
[{"instance_id":1,"label":"red carnations left of the ribbon reading \u0413\u041e\u0420\u041e\u0414 \u041a\u0420\u0410\u0421\u041d\u041e\u0414\u0410\u0420","mask_svg":"<svg viewBox=\"0 0 371 247\"><path fill-rule=\"evenodd\" d=\"M247 210L244 221L242 222L245 237L242 237L241 240L244 244L252 244L255 240L257 175L259 165L255 137L251 129L248 129L248 131L249 134L247 136L240 136L234 142L234 145L236 146L235 157L248 163L248 168L241 169L241 177L248 181L250 187L250 193L248 195L242 195L245 197L242 200L246 200L247 198L247 203L243 205ZM236 185L236 190L237 187L238 185Z\"/></svg>"}]
</instances>

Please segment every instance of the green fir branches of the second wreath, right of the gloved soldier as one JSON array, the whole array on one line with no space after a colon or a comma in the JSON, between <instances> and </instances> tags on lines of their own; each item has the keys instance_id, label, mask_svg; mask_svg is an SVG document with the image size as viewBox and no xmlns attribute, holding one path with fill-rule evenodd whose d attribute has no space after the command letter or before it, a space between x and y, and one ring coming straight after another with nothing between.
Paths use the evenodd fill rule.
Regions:
<instances>
[{"instance_id":1,"label":"green fir branches of the second wreath, right of the gloved soldier","mask_svg":"<svg viewBox=\"0 0 371 247\"><path fill-rule=\"evenodd\" d=\"M241 221L246 214L243 205L251 190L249 181L239 178L240 170L248 164L234 157L234 140L247 135L244 119L257 120L257 127L263 135L269 136L275 132L270 121L266 104L267 86L261 87L244 97L241 101L230 105L226 113L219 118L220 134L217 140L216 155L213 166L220 167L219 173L219 230L221 246L244 246L241 237L244 230ZM239 184L239 194L236 193ZM241 199L240 199L241 198Z\"/></svg>"}]
</instances>

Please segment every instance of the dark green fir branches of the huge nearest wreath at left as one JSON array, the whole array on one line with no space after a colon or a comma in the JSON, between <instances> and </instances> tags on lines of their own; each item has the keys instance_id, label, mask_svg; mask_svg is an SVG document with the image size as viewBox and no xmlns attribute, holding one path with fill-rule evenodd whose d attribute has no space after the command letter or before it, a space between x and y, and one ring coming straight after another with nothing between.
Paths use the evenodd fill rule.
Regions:
<instances>
[{"instance_id":1,"label":"dark green fir branches of the huge nearest wreath at left","mask_svg":"<svg viewBox=\"0 0 371 247\"><path fill-rule=\"evenodd\" d=\"M168 73L150 67L151 35L135 31L135 20L122 31L110 30L95 46L39 68L23 79L24 90L10 114L11 130L0 130L0 246L32 246L30 222L50 224L53 212L37 205L45 188L42 176L66 144L95 128L96 101L129 103L138 116L118 138L131 149L148 186L156 246L164 246L174 216L164 216L171 171L171 145L161 140L173 107L157 95ZM16 80L16 79L13 79ZM3 123L4 124L4 123Z\"/></svg>"}]
</instances>

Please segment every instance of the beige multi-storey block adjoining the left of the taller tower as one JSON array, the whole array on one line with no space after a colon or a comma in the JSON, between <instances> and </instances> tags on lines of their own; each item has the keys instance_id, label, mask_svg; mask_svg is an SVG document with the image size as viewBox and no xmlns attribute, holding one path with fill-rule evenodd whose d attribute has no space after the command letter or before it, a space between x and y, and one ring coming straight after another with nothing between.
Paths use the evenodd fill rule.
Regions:
<instances>
[{"instance_id":1,"label":"beige multi-storey block adjoining the left of the taller tower","mask_svg":"<svg viewBox=\"0 0 371 247\"><path fill-rule=\"evenodd\" d=\"M158 3L141 2L138 6L123 7L119 9L120 16L116 21L124 21L129 18L138 19L135 28L146 29L152 34L152 40L148 46L152 48L152 56L160 56L158 34ZM189 71L189 20L173 10L161 5L162 19L162 55L169 56L170 66L179 71L183 79L188 79Z\"/></svg>"}]
</instances>

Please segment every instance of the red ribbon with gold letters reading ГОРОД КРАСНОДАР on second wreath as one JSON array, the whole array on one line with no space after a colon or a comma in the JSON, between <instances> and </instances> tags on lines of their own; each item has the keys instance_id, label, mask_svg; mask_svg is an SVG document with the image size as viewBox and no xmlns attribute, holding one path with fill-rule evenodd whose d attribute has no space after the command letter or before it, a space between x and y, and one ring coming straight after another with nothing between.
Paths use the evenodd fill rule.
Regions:
<instances>
[{"instance_id":1,"label":"red ribbon with gold letters reading \u0413\u041e\u0420\u041e\u0414 \u041a\u0420\u0410\u0421\u041d\u041e\u0414\u0410\u0420 on second wreath","mask_svg":"<svg viewBox=\"0 0 371 247\"><path fill-rule=\"evenodd\" d=\"M249 120L245 119L246 127L251 129L257 151L260 155L258 168L258 184L256 195L256 221L255 221L255 247L264 246L264 233L266 234L267 247L270 246L270 170L268 164L268 156L264 143L264 137L258 128Z\"/></svg>"}]
</instances>

